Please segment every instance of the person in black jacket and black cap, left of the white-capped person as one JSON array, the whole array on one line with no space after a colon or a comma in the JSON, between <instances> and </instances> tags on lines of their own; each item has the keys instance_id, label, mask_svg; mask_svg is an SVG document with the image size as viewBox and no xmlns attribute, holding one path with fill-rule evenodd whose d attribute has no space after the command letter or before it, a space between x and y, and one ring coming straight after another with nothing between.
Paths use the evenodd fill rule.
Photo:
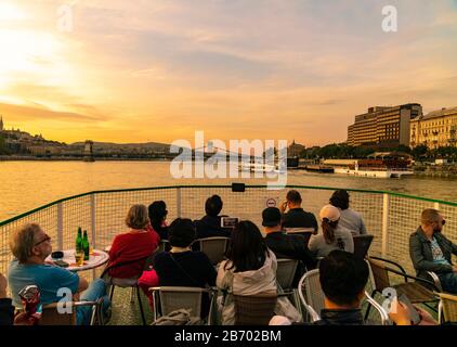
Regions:
<instances>
[{"instance_id":1,"label":"person in black jacket and black cap, left of the white-capped person","mask_svg":"<svg viewBox=\"0 0 457 347\"><path fill-rule=\"evenodd\" d=\"M276 258L300 260L295 277L295 285L308 270L314 269L316 260L304 244L302 235L287 234L280 226L280 211L277 207L267 207L262 211L262 226L264 228L265 244L273 250ZM304 268L305 267L305 268Z\"/></svg>"}]
</instances>

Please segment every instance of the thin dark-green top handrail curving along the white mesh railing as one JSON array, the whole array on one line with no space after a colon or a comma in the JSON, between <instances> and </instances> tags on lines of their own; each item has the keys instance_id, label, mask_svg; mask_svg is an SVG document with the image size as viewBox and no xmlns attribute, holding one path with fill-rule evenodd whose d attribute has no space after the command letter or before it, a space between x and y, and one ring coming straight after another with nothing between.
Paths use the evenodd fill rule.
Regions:
<instances>
[{"instance_id":1,"label":"thin dark-green top handrail curving along the white mesh railing","mask_svg":"<svg viewBox=\"0 0 457 347\"><path fill-rule=\"evenodd\" d=\"M25 211L21 215L17 215L15 217L5 219L3 221L0 221L0 227L5 226L8 223L11 223L15 220L18 220L21 218L27 217L31 214L35 214L39 210L42 210L44 208L57 205L63 202L67 202L70 200L75 200L78 197L89 196L91 194L108 194L108 193L121 193L121 192L138 192L138 191L153 191L153 190L167 190L167 189L186 189L186 188L197 188L197 189L206 189L206 188L232 188L231 184L188 184L188 185L162 185L162 187L146 187L146 188L126 188L126 189L114 189L114 190L102 190L102 191L91 191L87 193L76 194L67 197L63 197L60 200L56 200L54 202L48 203L45 205L39 206L37 208L30 209L28 211ZM266 184L246 184L246 188L253 188L253 189L314 189L314 190L328 190L328 191L336 191L341 190L342 188L337 187L318 187L318 185L295 185L295 184L287 184L286 187L283 185L266 185ZM348 188L344 189L348 192L356 192L356 193L369 193L369 194L389 194L391 196L399 196L399 197L405 197L405 198L412 198L417 201L423 201L423 202L430 202L430 203L439 203L444 204L448 206L457 206L457 203L453 202L446 202L442 200L434 200L429 197L421 197L421 196L415 196L404 193L397 193L397 192L391 192L391 191L374 191L374 190L365 190L365 189L355 189L355 188Z\"/></svg>"}]
</instances>

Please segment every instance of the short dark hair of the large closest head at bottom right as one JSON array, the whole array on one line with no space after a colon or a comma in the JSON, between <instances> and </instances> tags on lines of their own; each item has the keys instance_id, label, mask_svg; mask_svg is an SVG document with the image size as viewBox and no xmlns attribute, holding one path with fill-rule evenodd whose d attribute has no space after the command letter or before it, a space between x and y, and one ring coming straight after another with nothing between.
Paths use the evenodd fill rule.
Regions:
<instances>
[{"instance_id":1,"label":"short dark hair of the large closest head at bottom right","mask_svg":"<svg viewBox=\"0 0 457 347\"><path fill-rule=\"evenodd\" d=\"M330 301L341 306L354 305L368 281L368 266L352 253L332 250L321 260L319 281Z\"/></svg>"}]
</instances>

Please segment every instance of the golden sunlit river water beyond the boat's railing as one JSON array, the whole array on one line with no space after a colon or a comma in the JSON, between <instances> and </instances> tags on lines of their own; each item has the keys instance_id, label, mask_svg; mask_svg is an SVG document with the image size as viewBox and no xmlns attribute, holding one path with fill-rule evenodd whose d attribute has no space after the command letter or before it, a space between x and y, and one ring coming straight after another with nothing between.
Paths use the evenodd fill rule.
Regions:
<instances>
[{"instance_id":1,"label":"golden sunlit river water beyond the boat's railing","mask_svg":"<svg viewBox=\"0 0 457 347\"><path fill-rule=\"evenodd\" d=\"M175 179L169 162L0 162L0 220L94 190L180 184L259 184L269 178ZM376 179L289 170L288 184L381 190L457 202L457 180ZM304 207L305 207L305 202Z\"/></svg>"}]
</instances>

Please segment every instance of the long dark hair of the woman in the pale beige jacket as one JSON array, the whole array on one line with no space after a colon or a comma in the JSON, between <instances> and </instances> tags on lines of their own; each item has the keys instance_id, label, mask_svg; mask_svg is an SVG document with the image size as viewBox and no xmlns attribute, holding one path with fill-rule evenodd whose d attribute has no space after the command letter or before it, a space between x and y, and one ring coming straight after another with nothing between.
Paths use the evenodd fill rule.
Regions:
<instances>
[{"instance_id":1,"label":"long dark hair of the woman in the pale beige jacket","mask_svg":"<svg viewBox=\"0 0 457 347\"><path fill-rule=\"evenodd\" d=\"M269 248L253 222L240 221L232 232L231 241L225 254L231 261L225 264L225 270L234 268L235 272L244 272L258 270L263 266L269 256Z\"/></svg>"}]
</instances>

